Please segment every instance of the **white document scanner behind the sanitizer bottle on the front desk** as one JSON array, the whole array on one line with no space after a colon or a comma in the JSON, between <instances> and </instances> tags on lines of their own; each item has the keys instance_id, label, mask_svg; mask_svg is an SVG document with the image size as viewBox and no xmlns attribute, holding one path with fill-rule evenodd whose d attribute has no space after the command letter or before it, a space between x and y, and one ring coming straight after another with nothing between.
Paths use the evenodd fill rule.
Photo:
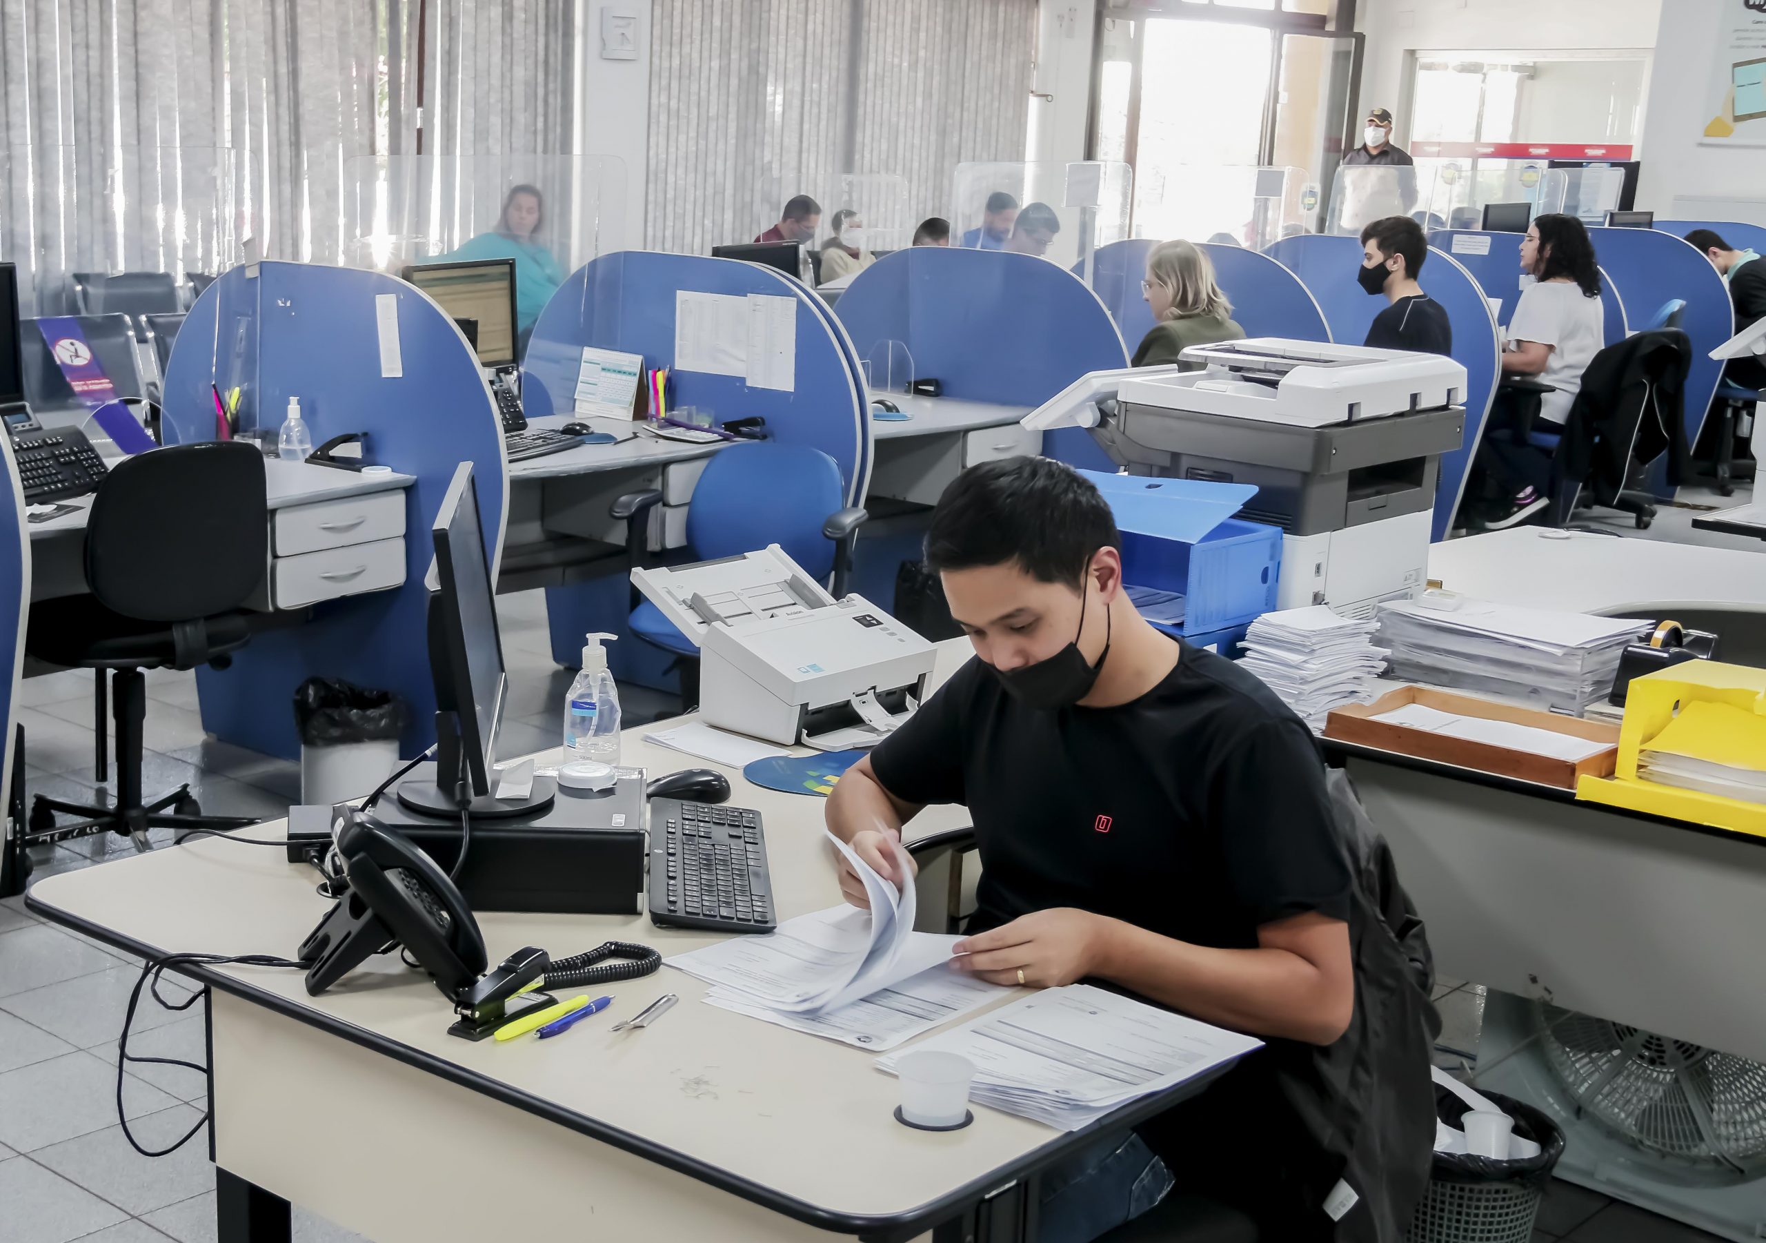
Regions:
<instances>
[{"instance_id":1,"label":"white document scanner behind the sanitizer bottle on the front desk","mask_svg":"<svg viewBox=\"0 0 1766 1243\"><path fill-rule=\"evenodd\" d=\"M932 644L860 595L835 600L777 544L632 583L699 644L699 715L719 729L871 747L925 697Z\"/></svg>"}]
</instances>

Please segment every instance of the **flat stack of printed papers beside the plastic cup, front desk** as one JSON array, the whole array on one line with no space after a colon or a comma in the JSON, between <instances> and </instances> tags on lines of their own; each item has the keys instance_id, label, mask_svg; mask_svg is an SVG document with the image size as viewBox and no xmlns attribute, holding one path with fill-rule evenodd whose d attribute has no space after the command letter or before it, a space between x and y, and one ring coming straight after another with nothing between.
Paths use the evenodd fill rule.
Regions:
<instances>
[{"instance_id":1,"label":"flat stack of printed papers beside the plastic cup, front desk","mask_svg":"<svg viewBox=\"0 0 1766 1243\"><path fill-rule=\"evenodd\" d=\"M1047 989L917 1043L975 1063L970 1100L1077 1130L1259 1049L1261 1040L1088 983ZM895 1074L904 1054L878 1058Z\"/></svg>"}]
</instances>

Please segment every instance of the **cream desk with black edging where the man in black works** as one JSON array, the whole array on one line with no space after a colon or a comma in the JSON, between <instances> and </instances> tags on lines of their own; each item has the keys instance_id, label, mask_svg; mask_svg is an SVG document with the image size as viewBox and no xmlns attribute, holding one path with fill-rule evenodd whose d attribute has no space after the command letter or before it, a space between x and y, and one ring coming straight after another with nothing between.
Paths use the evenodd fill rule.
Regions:
<instances>
[{"instance_id":1,"label":"cream desk with black edging where the man in black works","mask_svg":"<svg viewBox=\"0 0 1766 1243\"><path fill-rule=\"evenodd\" d=\"M966 643L941 644L940 674L966 653ZM627 763L652 772L682 766L680 752L646 743L639 729L622 745ZM823 802L726 772L733 802L766 819L781 918L839 902ZM929 809L911 828L964 823L961 809ZM281 825L253 830L281 833ZM46 878L26 900L132 953L286 955L325 913L313 886L313 872L279 849L210 839ZM673 959L719 943L636 913L479 922L493 962L525 945L574 953L622 939ZM279 1222L286 1238L290 1201L376 1243L496 1238L512 1227L535 1238L592 1227L719 1243L1024 1239L1040 1171L1095 1134L996 1109L975 1109L957 1132L911 1130L892 1118L901 1089L874 1052L705 1005L706 987L668 966L609 987L604 1021L507 1043L449 1036L447 1001L397 955L371 959L320 998L298 971L192 973L210 985L221 1243L251 1238L254 1222L267 1231ZM609 1029L668 992L682 1001L659 1022ZM994 992L975 1017L1021 996ZM1208 1077L1118 1105L1100 1125L1132 1126Z\"/></svg>"}]
</instances>

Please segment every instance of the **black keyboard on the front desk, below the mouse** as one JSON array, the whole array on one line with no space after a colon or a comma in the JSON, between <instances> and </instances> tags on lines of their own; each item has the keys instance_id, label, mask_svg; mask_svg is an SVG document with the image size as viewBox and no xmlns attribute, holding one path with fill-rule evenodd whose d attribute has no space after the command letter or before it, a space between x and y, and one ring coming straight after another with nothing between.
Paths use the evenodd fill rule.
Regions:
<instances>
[{"instance_id":1,"label":"black keyboard on the front desk, below the mouse","mask_svg":"<svg viewBox=\"0 0 1766 1243\"><path fill-rule=\"evenodd\" d=\"M710 932L772 932L761 814L650 800L650 922Z\"/></svg>"}]
</instances>

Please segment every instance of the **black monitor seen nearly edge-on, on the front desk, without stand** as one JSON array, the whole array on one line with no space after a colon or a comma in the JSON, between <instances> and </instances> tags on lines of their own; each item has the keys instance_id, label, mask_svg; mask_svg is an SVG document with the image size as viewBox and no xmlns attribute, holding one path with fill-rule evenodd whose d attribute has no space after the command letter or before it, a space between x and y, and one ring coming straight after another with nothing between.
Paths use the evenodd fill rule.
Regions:
<instances>
[{"instance_id":1,"label":"black monitor seen nearly edge-on, on the front desk, without stand","mask_svg":"<svg viewBox=\"0 0 1766 1243\"><path fill-rule=\"evenodd\" d=\"M442 629L436 699L442 706L452 701L464 770L473 795L484 796L491 793L496 729L509 685L472 463L461 463L454 471L433 535Z\"/></svg>"}]
</instances>

